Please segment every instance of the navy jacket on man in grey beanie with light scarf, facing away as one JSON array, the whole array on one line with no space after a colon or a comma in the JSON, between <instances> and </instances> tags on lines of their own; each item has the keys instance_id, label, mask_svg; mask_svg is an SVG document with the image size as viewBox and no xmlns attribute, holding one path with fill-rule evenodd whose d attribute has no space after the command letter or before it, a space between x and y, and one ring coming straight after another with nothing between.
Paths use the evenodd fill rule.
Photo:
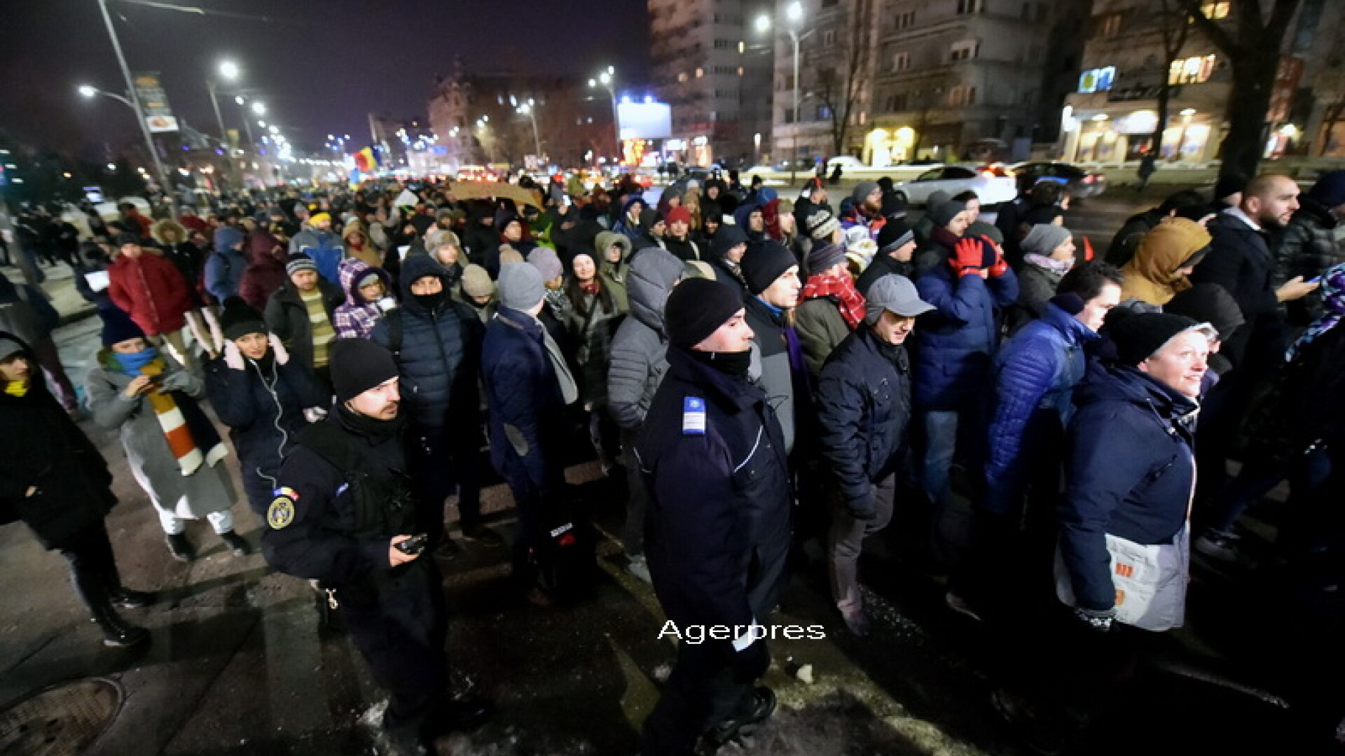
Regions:
<instances>
[{"instance_id":1,"label":"navy jacket on man in grey beanie with light scarf, facing away","mask_svg":"<svg viewBox=\"0 0 1345 756\"><path fill-rule=\"evenodd\" d=\"M531 315L502 307L486 328L482 378L491 464L511 483L546 490L561 472L565 398L542 328Z\"/></svg>"}]
</instances>

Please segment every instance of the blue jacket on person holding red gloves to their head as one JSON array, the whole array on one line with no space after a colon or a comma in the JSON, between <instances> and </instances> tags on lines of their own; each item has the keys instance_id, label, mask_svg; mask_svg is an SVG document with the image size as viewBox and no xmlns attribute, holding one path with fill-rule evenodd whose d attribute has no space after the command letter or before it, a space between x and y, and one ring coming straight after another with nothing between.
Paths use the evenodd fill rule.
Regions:
<instances>
[{"instance_id":1,"label":"blue jacket on person holding red gloves to their head","mask_svg":"<svg viewBox=\"0 0 1345 756\"><path fill-rule=\"evenodd\" d=\"M982 280L954 278L947 265L916 281L920 299L935 309L920 316L915 348L915 401L924 410L963 409L989 390L999 344L995 308L1018 300L1013 270Z\"/></svg>"}]
</instances>

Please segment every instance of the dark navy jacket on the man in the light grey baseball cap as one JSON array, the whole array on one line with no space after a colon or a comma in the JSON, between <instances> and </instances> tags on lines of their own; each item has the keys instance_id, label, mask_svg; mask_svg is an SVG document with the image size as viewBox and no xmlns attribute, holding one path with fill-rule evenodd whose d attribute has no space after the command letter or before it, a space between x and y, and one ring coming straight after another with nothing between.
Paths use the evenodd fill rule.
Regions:
<instances>
[{"instance_id":1,"label":"dark navy jacket on the man in the light grey baseball cap","mask_svg":"<svg viewBox=\"0 0 1345 756\"><path fill-rule=\"evenodd\" d=\"M816 391L822 455L851 511L873 511L872 484L897 467L911 422L905 347L878 343L869 326L827 356Z\"/></svg>"}]
</instances>

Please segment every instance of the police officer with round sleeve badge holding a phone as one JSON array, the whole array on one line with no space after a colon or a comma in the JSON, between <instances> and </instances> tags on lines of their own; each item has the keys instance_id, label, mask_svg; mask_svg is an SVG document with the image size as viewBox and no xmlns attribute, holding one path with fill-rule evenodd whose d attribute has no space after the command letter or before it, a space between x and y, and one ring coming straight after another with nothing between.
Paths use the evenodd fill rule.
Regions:
<instances>
[{"instance_id":1,"label":"police officer with round sleeve badge holding a phone","mask_svg":"<svg viewBox=\"0 0 1345 756\"><path fill-rule=\"evenodd\" d=\"M373 342L342 339L331 367L336 408L285 457L262 547L281 572L321 581L340 609L390 694L383 728L393 753L426 753L436 734L471 729L490 708L447 695L440 573L416 547L422 547L424 534L405 472L397 363Z\"/></svg>"}]
</instances>

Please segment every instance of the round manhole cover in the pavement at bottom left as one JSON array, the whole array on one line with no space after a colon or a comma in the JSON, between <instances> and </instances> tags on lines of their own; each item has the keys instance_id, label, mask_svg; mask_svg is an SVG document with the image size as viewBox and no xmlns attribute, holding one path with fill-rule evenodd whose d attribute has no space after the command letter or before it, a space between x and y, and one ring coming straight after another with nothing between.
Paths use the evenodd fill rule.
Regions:
<instances>
[{"instance_id":1,"label":"round manhole cover in the pavement at bottom left","mask_svg":"<svg viewBox=\"0 0 1345 756\"><path fill-rule=\"evenodd\" d=\"M0 710L0 755L74 756L121 709L117 683L90 678L35 693Z\"/></svg>"}]
</instances>

